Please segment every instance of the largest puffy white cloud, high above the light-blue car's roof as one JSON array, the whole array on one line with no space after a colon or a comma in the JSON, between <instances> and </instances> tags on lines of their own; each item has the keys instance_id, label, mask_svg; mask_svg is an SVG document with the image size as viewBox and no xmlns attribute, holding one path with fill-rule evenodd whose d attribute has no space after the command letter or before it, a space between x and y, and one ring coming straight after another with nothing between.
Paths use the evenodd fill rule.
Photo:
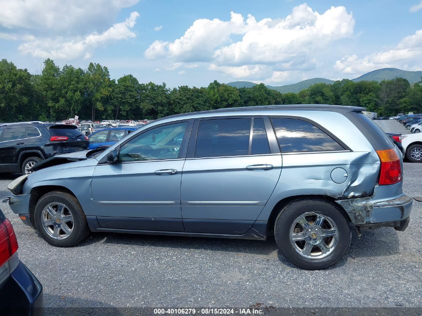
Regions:
<instances>
[{"instance_id":1,"label":"largest puffy white cloud, high above the light-blue car's roof","mask_svg":"<svg viewBox=\"0 0 422 316\"><path fill-rule=\"evenodd\" d=\"M180 38L155 40L145 57L206 62L209 69L235 78L265 75L277 79L283 71L314 69L315 50L352 36L355 26L344 6L332 6L320 14L304 3L285 18L260 21L251 14L246 20L239 13L230 15L227 21L197 19ZM273 71L277 71L274 76Z\"/></svg>"}]
</instances>

